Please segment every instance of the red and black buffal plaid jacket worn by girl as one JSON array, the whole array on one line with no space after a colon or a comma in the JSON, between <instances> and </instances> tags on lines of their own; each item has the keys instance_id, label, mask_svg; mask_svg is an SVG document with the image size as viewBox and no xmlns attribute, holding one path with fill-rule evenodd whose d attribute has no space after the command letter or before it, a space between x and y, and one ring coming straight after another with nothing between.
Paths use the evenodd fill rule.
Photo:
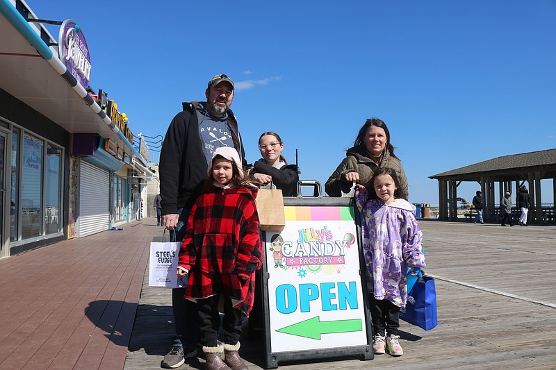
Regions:
<instances>
[{"instance_id":1,"label":"red and black buffal plaid jacket worn by girl","mask_svg":"<svg viewBox=\"0 0 556 370\"><path fill-rule=\"evenodd\" d=\"M213 187L191 208L179 251L179 266L190 275L186 298L223 294L240 301L235 307L245 314L251 311L255 271L263 263L257 190Z\"/></svg>"}]
</instances>

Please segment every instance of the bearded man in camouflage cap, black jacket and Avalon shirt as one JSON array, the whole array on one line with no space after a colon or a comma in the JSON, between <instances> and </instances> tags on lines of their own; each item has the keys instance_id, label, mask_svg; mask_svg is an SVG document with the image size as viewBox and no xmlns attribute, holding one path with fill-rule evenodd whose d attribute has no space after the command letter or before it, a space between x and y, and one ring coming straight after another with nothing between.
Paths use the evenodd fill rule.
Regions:
<instances>
[{"instance_id":1,"label":"bearded man in camouflage cap, black jacket and Avalon shirt","mask_svg":"<svg viewBox=\"0 0 556 370\"><path fill-rule=\"evenodd\" d=\"M245 165L245 153L236 117L229 109L234 99L234 82L225 74L208 81L206 102L183 103L168 127L158 170L161 177L162 224L181 241L190 209L199 196L208 162L220 146L232 146ZM180 367L197 355L199 327L197 308L183 298L186 288L172 289L176 337L161 367Z\"/></svg>"}]
</instances>

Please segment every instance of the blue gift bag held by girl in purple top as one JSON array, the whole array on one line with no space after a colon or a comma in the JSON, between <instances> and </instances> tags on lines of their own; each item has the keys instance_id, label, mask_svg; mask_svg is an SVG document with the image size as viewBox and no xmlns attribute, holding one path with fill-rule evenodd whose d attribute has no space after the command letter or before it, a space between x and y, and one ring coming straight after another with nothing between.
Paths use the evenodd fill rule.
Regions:
<instances>
[{"instance_id":1,"label":"blue gift bag held by girl in purple top","mask_svg":"<svg viewBox=\"0 0 556 370\"><path fill-rule=\"evenodd\" d=\"M423 276L416 281L411 292L407 294L405 308L400 310L400 319L424 330L431 330L438 325L433 278Z\"/></svg>"}]
</instances>

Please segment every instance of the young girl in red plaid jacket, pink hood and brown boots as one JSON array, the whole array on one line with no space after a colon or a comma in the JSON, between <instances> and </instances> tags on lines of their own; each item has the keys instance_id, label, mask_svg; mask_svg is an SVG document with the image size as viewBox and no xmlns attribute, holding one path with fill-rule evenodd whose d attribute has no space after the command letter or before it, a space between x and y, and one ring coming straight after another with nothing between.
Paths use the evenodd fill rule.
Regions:
<instances>
[{"instance_id":1,"label":"young girl in red plaid jacket, pink hood and brown boots","mask_svg":"<svg viewBox=\"0 0 556 370\"><path fill-rule=\"evenodd\" d=\"M252 309L254 274L263 258L256 190L245 180L236 149L216 149L204 194L191 208L179 251L177 274L190 274L185 298L197 301L207 370L247 369L238 355L241 313L248 315ZM220 295L224 298L223 345L217 340Z\"/></svg>"}]
</instances>

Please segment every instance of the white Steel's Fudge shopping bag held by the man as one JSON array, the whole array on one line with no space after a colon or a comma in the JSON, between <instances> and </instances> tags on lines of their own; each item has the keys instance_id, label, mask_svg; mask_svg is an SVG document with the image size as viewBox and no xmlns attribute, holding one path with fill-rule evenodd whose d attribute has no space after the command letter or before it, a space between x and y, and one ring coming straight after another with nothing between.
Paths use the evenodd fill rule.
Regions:
<instances>
[{"instance_id":1,"label":"white Steel's Fudge shopping bag held by the man","mask_svg":"<svg viewBox=\"0 0 556 370\"><path fill-rule=\"evenodd\" d=\"M149 258L149 287L186 287L188 275L177 276L181 242L152 242Z\"/></svg>"}]
</instances>

